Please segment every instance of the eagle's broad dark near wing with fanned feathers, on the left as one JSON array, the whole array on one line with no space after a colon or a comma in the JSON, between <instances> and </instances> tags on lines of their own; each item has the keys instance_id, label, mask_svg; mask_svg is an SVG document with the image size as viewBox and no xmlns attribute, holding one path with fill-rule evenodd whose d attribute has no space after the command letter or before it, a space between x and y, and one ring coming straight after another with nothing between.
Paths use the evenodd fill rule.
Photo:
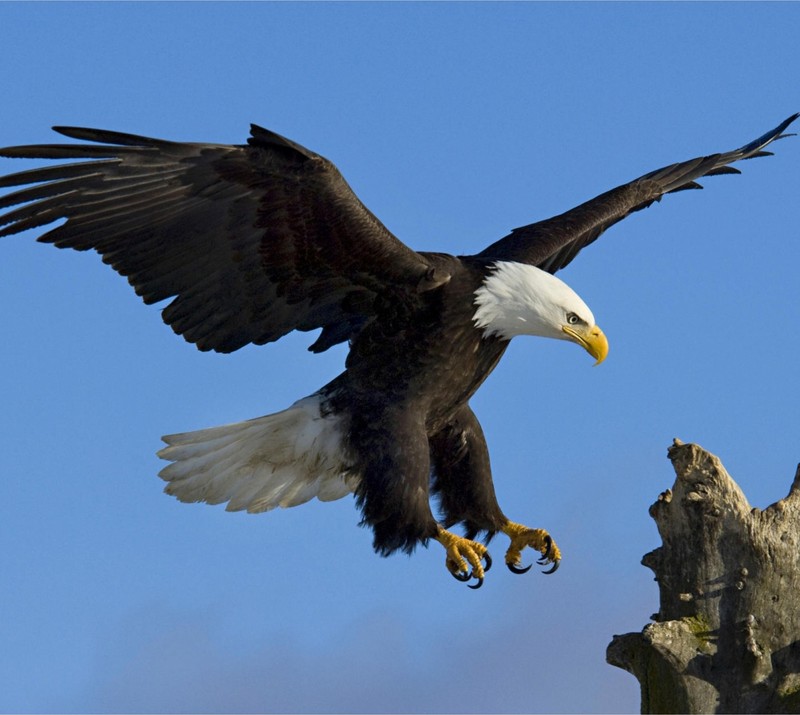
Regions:
<instances>
[{"instance_id":1,"label":"eagle's broad dark near wing with fanned feathers, on the left","mask_svg":"<svg viewBox=\"0 0 800 715\"><path fill-rule=\"evenodd\" d=\"M94 249L164 321L201 350L232 352L323 328L325 350L372 316L377 295L448 279L395 238L327 159L252 126L246 146L168 142L56 127L99 144L0 149L82 161L0 177L0 237Z\"/></svg>"}]
</instances>

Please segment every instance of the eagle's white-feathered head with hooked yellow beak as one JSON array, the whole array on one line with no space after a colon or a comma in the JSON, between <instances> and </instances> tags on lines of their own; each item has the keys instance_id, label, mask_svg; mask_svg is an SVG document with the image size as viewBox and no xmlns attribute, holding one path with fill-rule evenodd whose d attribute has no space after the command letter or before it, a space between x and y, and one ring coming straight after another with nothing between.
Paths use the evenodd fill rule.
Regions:
<instances>
[{"instance_id":1,"label":"eagle's white-feathered head with hooked yellow beak","mask_svg":"<svg viewBox=\"0 0 800 715\"><path fill-rule=\"evenodd\" d=\"M608 354L608 340L589 306L564 281L535 266L498 261L475 291L475 305L472 319L486 336L571 340L597 360L595 365Z\"/></svg>"}]
</instances>

